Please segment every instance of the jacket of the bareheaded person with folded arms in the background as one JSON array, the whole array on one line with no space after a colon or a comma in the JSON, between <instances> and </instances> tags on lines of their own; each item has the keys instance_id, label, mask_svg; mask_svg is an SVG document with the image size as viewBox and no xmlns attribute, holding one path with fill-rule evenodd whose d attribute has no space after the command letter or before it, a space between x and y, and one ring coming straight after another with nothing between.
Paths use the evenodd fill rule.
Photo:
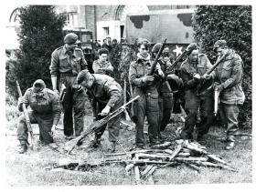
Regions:
<instances>
[{"instance_id":1,"label":"jacket of the bareheaded person with folded arms in the background","mask_svg":"<svg viewBox=\"0 0 256 192\"><path fill-rule=\"evenodd\" d=\"M92 64L94 74L102 74L111 76L113 72L112 64L109 61L102 62L100 59L96 60Z\"/></svg>"}]
</instances>

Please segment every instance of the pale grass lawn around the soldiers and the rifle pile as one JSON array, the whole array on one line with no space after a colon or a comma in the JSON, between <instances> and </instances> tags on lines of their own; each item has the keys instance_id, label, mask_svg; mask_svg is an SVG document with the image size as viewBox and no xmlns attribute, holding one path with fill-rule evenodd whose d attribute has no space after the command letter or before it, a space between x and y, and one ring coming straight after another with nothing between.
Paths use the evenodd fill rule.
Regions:
<instances>
[{"instance_id":1,"label":"pale grass lawn around the soldiers and the rifle pile","mask_svg":"<svg viewBox=\"0 0 256 192\"><path fill-rule=\"evenodd\" d=\"M135 178L127 175L124 166L112 164L109 166L93 167L88 171L63 171L63 169L46 170L45 167L59 165L63 156L51 150L48 146L37 145L37 151L29 149L26 154L17 154L16 147L16 123L19 113L14 106L6 106L6 183L8 186L113 186L113 185L135 185ZM91 116L85 118L85 125L92 122ZM59 122L59 126L61 126ZM180 126L177 116L174 123L169 124L165 130L165 136L172 133ZM38 133L37 125L33 125L34 133ZM232 151L223 149L224 144L216 140L216 137L224 136L224 131L219 127L211 127L205 137L205 146L208 151L226 159L232 167L238 168L238 172L230 172L219 168L201 167L200 173L186 166L158 167L154 173L153 181L146 180L143 185L156 184L220 184L220 183L251 183L252 182L252 155L251 139L246 136L239 137L238 146ZM108 132L105 131L100 148L88 151L85 144L74 149L75 157L102 157L107 152ZM36 135L36 140L38 136ZM134 144L134 132L121 129L120 142L128 150ZM63 132L58 130L55 141L60 147L66 142ZM123 152L117 146L117 152Z\"/></svg>"}]
</instances>

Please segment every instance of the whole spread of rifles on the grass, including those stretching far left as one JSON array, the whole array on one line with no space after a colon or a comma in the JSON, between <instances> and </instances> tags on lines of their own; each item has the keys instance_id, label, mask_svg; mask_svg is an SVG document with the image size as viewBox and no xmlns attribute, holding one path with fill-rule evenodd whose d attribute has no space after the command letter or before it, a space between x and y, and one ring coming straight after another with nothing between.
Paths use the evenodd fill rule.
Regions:
<instances>
[{"instance_id":1,"label":"whole spread of rifles on the grass, including those stretching far left","mask_svg":"<svg viewBox=\"0 0 256 192\"><path fill-rule=\"evenodd\" d=\"M128 175L134 174L137 184L149 177L152 178L155 170L160 167L185 165L198 173L200 167L216 167L237 172L237 169L231 167L223 158L209 153L206 147L192 140L166 141L150 149L125 151L123 148L123 151L124 153L104 154L101 158L66 159L59 162L59 166L47 167L47 169L87 171L91 167L118 163L124 165Z\"/></svg>"}]
</instances>

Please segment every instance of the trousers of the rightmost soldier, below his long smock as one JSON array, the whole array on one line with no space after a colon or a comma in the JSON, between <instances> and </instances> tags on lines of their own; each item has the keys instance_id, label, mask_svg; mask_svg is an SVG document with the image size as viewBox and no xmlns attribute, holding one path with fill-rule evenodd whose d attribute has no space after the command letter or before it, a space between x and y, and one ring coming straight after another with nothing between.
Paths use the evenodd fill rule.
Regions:
<instances>
[{"instance_id":1,"label":"trousers of the rightmost soldier, below his long smock","mask_svg":"<svg viewBox=\"0 0 256 192\"><path fill-rule=\"evenodd\" d=\"M235 141L235 135L239 130L239 105L219 103L219 115L227 130L227 137Z\"/></svg>"}]
</instances>

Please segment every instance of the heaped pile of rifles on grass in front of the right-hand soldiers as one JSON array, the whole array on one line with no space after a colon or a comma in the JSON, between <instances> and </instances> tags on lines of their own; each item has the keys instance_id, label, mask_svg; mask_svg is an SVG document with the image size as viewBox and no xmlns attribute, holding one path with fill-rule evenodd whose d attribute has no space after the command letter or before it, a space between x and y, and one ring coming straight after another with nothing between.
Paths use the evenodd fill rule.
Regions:
<instances>
[{"instance_id":1,"label":"heaped pile of rifles on grass in front of the right-hand soldiers","mask_svg":"<svg viewBox=\"0 0 256 192\"><path fill-rule=\"evenodd\" d=\"M105 154L106 159L110 157L126 156L125 171L130 174L133 170L136 183L152 176L158 167L175 167L186 165L200 172L200 167L218 167L237 172L221 157L210 154L206 147L196 141L176 140L157 145L154 149L125 152L119 154ZM129 159L130 157L130 159ZM113 161L115 162L115 161Z\"/></svg>"}]
</instances>

